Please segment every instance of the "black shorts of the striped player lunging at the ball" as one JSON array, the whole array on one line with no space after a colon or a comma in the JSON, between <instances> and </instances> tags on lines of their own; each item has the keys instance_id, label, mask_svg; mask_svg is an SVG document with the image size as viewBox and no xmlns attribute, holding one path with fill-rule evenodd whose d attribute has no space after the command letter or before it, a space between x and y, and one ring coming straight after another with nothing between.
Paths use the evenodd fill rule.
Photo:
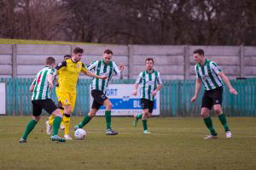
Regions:
<instances>
[{"instance_id":1,"label":"black shorts of the striped player lunging at the ball","mask_svg":"<svg viewBox=\"0 0 256 170\"><path fill-rule=\"evenodd\" d=\"M108 97L102 93L101 90L91 90L91 96L93 97L93 103L91 105L91 109L99 110L103 105L104 101L108 99Z\"/></svg>"}]
</instances>

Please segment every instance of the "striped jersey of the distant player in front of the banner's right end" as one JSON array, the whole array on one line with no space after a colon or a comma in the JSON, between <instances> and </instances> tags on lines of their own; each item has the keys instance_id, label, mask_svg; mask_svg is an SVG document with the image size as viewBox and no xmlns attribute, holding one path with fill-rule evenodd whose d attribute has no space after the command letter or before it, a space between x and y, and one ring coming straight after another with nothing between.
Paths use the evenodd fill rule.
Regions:
<instances>
[{"instance_id":1,"label":"striped jersey of the distant player in front of the banner's right end","mask_svg":"<svg viewBox=\"0 0 256 170\"><path fill-rule=\"evenodd\" d=\"M158 84L162 84L160 73L154 71L148 73L148 71L143 71L137 77L136 83L141 84L140 94L142 99L154 100L153 91L157 88Z\"/></svg>"}]
</instances>

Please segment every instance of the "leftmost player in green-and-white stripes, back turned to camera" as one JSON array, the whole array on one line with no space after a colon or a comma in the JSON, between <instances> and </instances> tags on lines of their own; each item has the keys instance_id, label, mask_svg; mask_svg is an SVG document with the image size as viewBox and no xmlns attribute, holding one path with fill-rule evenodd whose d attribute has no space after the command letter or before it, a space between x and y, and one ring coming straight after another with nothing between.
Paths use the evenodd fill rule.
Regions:
<instances>
[{"instance_id":1,"label":"leftmost player in green-and-white stripes, back turned to camera","mask_svg":"<svg viewBox=\"0 0 256 170\"><path fill-rule=\"evenodd\" d=\"M49 98L49 93L53 88L53 77L55 76L55 59L48 57L46 66L38 72L37 77L30 86L32 92L32 120L26 125L26 130L20 139L20 143L26 143L26 139L32 129L37 125L44 109L49 114L55 116L53 122L53 135L50 137L52 141L65 142L57 134L61 124L61 111L55 106L55 103Z\"/></svg>"}]
</instances>

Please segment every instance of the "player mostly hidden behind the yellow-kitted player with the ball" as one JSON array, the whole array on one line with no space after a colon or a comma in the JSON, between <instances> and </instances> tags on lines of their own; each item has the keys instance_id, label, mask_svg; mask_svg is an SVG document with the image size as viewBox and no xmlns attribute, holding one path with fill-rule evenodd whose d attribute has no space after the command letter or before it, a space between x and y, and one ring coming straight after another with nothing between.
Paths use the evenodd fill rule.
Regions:
<instances>
[{"instance_id":1,"label":"player mostly hidden behind the yellow-kitted player with the ball","mask_svg":"<svg viewBox=\"0 0 256 170\"><path fill-rule=\"evenodd\" d=\"M64 59L63 61L66 61L67 59L71 59L71 55L64 55ZM64 114L64 108L62 107L62 104L61 104L61 101L60 101L60 94L59 94L59 82L57 81L56 77L55 77L55 83L56 83L56 88L55 88L55 91L56 91L56 96L57 96L57 99L58 99L58 108L61 110L61 113ZM53 121L55 119L55 116L49 116L48 118L48 121L45 122L46 124L46 133L48 135L50 135L50 131L51 131L51 128L52 128L52 124L53 124ZM64 125L64 122L61 121L61 129L65 129L65 125Z\"/></svg>"}]
</instances>

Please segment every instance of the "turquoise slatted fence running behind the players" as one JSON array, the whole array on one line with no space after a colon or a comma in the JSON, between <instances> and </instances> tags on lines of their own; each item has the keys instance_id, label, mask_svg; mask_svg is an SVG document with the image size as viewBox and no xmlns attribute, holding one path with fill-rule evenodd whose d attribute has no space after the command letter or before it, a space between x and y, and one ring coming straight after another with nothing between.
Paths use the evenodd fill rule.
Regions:
<instances>
[{"instance_id":1,"label":"turquoise slatted fence running behind the players","mask_svg":"<svg viewBox=\"0 0 256 170\"><path fill-rule=\"evenodd\" d=\"M9 116L29 116L32 113L29 86L31 78L1 78L0 82L6 83L6 110ZM112 83L134 83L135 80L113 80ZM166 80L160 91L161 116L199 116L201 110L200 96L195 103L190 102L194 95L195 81ZM256 116L256 78L231 81L238 95L229 93L224 87L223 108L228 116ZM80 79L78 82L78 95L73 115L84 116L90 110L90 80ZM132 91L132 89L131 89ZM56 102L55 88L51 98ZM45 114L45 112L44 112Z\"/></svg>"}]
</instances>

